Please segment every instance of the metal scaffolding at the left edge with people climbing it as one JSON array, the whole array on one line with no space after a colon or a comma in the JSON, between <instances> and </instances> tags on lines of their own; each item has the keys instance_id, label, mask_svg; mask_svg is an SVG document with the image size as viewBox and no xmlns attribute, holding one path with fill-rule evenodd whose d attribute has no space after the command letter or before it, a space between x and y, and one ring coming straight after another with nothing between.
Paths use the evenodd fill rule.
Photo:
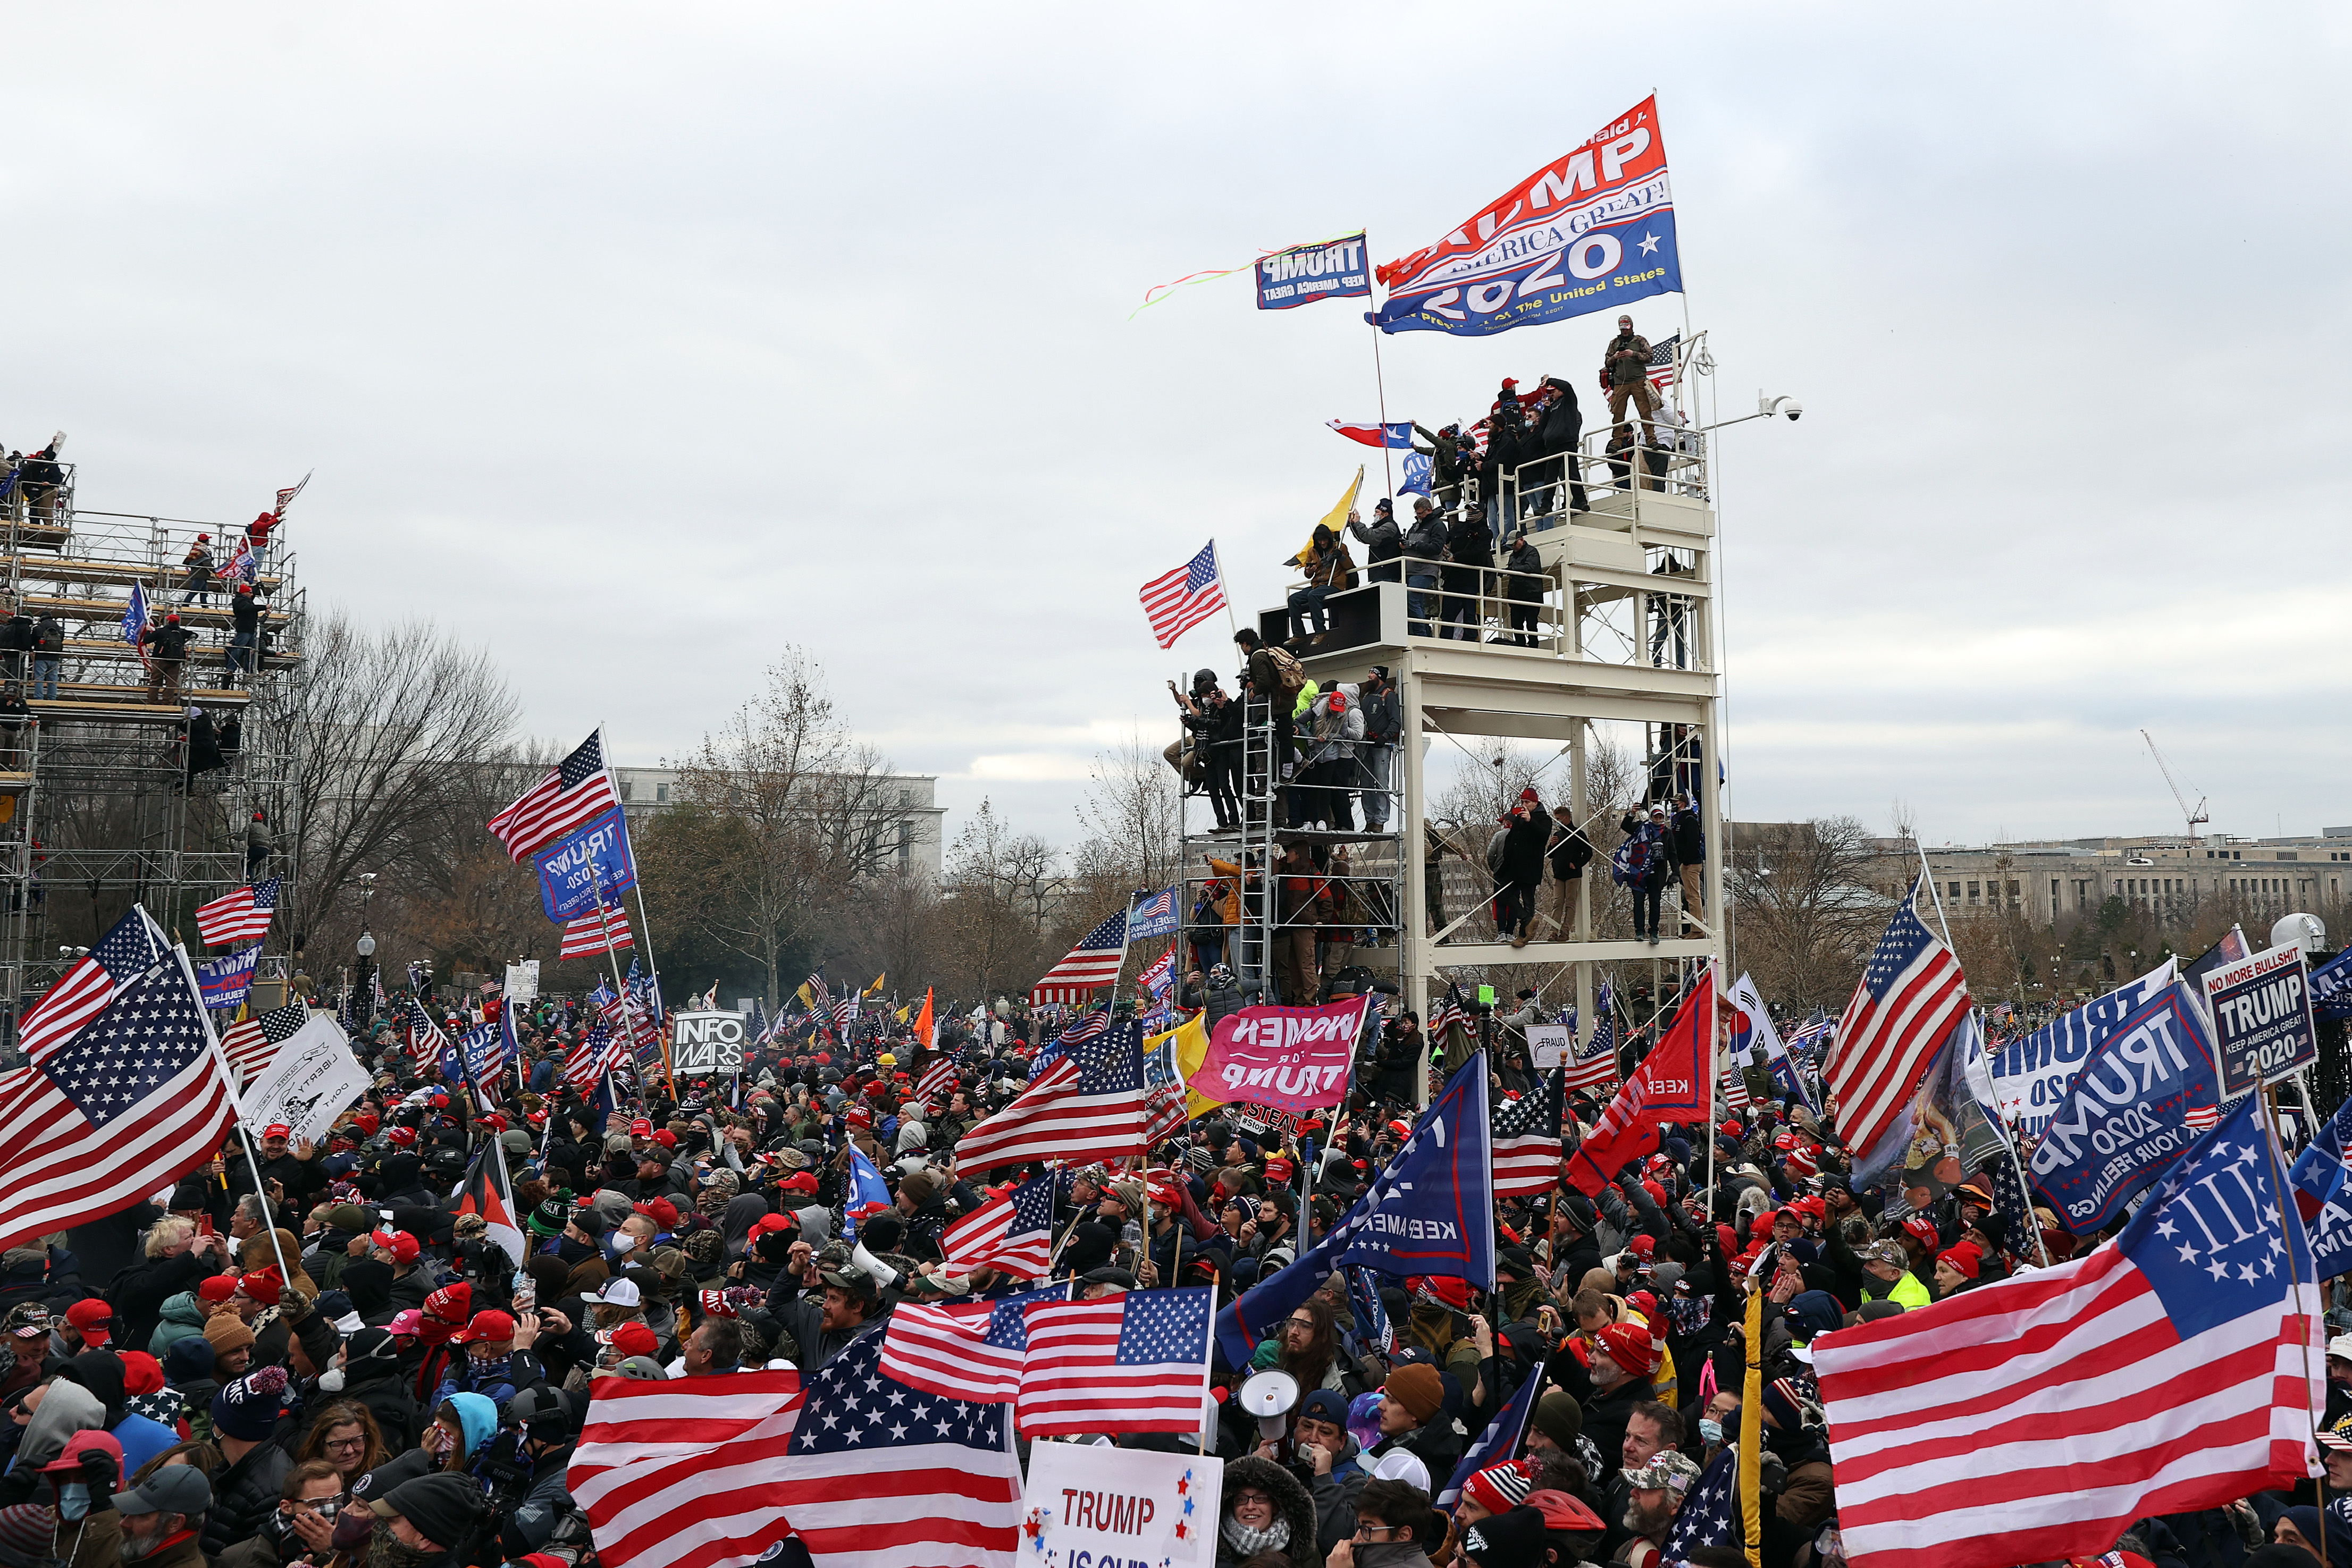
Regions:
<instances>
[{"instance_id":1,"label":"metal scaffolding at the left edge with people climbing it","mask_svg":"<svg viewBox=\"0 0 2352 1568\"><path fill-rule=\"evenodd\" d=\"M16 616L54 616L54 656L0 649L0 1051L16 1020L132 903L202 952L195 907L247 882L247 825L263 811L280 919L263 940L254 1001L282 999L301 823L294 717L303 705L306 597L275 538L254 564L259 644L230 649L230 588L188 583L186 552L209 536L226 569L240 527L101 512L61 482L0 496L0 597ZM195 637L176 689L151 677L134 599L153 623L176 614ZM247 670L238 670L238 661ZM52 668L54 661L54 668ZM54 686L54 693L52 693Z\"/></svg>"}]
</instances>

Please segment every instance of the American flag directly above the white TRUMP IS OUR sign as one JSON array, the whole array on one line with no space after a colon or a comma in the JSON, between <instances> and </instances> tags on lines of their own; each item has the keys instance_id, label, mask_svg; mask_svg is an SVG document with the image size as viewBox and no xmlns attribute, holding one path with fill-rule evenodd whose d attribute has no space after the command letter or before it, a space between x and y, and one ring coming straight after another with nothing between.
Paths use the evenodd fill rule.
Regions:
<instances>
[{"instance_id":1,"label":"American flag directly above the white TRUMP IS OUR sign","mask_svg":"<svg viewBox=\"0 0 2352 1568\"><path fill-rule=\"evenodd\" d=\"M1127 1291L1025 1307L1021 1436L1200 1432L1216 1291Z\"/></svg>"}]
</instances>

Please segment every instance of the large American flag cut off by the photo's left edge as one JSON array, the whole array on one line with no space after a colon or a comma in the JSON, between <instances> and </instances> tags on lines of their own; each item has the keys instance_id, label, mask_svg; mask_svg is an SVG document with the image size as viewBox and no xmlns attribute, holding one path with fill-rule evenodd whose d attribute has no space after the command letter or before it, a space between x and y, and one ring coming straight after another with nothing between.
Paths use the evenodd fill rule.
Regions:
<instances>
[{"instance_id":1,"label":"large American flag cut off by the photo's left edge","mask_svg":"<svg viewBox=\"0 0 2352 1568\"><path fill-rule=\"evenodd\" d=\"M35 1065L0 1072L0 1248L153 1197L212 1159L235 1114L205 997L167 952Z\"/></svg>"}]
</instances>

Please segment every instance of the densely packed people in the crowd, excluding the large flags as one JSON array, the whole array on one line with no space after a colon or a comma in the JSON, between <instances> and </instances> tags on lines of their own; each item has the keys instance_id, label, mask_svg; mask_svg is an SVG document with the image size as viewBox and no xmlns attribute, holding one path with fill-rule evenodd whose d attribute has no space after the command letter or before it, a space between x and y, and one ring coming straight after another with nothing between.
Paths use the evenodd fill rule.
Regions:
<instances>
[{"instance_id":1,"label":"densely packed people in the crowd, excluding the large flags","mask_svg":"<svg viewBox=\"0 0 2352 1568\"><path fill-rule=\"evenodd\" d=\"M1023 1086L1044 1044L1028 1020L948 1020L936 1051L887 1016L847 1041L802 1030L757 1046L741 1081L673 1091L652 1074L604 1107L562 1077L581 1025L572 1006L534 1004L522 1060L487 1098L379 1027L355 1041L374 1086L325 1143L261 1128L252 1164L223 1147L153 1206L0 1258L0 1556L579 1568L595 1547L564 1469L602 1380L816 1371L903 1302L1014 1284L948 1272L941 1237L1035 1175L957 1161ZM1143 1168L1061 1171L1049 1276L1087 1298L1247 1291L1367 1192L1446 1044L1465 1041L1395 1020L1327 1119L1209 1117ZM917 1098L941 1056L953 1081ZM1494 1051L1489 1081L1498 1105L1541 1093L1512 1048ZM1569 1147L1604 1100L1569 1095ZM520 1265L456 1197L487 1140L513 1173ZM856 1244L842 1239L849 1150L891 1197ZM1698 1533L1700 1509L1724 1507L1700 1476L1738 1441L1750 1293L1766 1300L1764 1561L1837 1563L1806 1342L2032 1258L1978 1182L1891 1220L1889 1194L1846 1171L1835 1124L1757 1103L1668 1128L1597 1201L1566 1187L1505 1199L1491 1293L1369 1276L1359 1298L1334 1274L1247 1363L1216 1361L1218 1563L1651 1568L1682 1523L1696 1535L1679 1561L1729 1568L1740 1556L1719 1542L1740 1526ZM2039 1222L2053 1255L2074 1246ZM2331 1349L2328 1472L2352 1486L2352 1436L2333 1436L2352 1432L2352 1338ZM1263 1368L1301 1389L1279 1436L1228 1396ZM1531 1378L1524 1443L1486 1455L1458 1505L1435 1509ZM2265 1533L2319 1537L2298 1502L2147 1519L2119 1549L2237 1568ZM2324 1528L2333 1542L2345 1526ZM1691 1547L1700 1535L1717 1544Z\"/></svg>"}]
</instances>

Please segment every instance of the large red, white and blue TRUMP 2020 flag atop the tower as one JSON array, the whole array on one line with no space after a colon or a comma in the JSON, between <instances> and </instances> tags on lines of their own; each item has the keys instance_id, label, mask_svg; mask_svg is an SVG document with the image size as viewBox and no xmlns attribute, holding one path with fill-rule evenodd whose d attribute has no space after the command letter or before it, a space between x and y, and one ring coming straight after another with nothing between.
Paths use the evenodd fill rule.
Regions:
<instances>
[{"instance_id":1,"label":"large red, white and blue TRUMP 2020 flag atop the tower","mask_svg":"<svg viewBox=\"0 0 2352 1568\"><path fill-rule=\"evenodd\" d=\"M1682 289L1658 101L1642 99L1437 244L1378 268L1381 331L1486 336Z\"/></svg>"}]
</instances>

